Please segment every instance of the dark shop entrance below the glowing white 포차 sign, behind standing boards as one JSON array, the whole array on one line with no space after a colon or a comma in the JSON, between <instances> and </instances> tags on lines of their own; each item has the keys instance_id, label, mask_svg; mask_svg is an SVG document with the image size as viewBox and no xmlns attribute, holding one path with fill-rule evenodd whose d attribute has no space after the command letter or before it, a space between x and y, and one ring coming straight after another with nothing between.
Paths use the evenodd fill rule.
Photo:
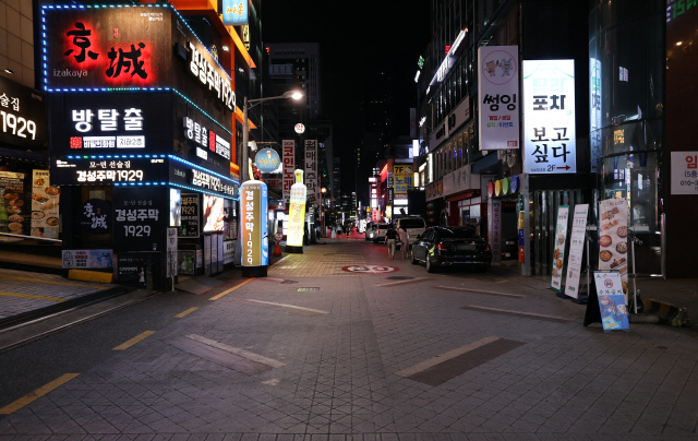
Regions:
<instances>
[{"instance_id":1,"label":"dark shop entrance below the glowing white \ud3ec\ucc28 sign, behind standing boards","mask_svg":"<svg viewBox=\"0 0 698 441\"><path fill-rule=\"evenodd\" d=\"M557 208L561 205L569 205L569 212L574 213L575 205L581 203L583 203L581 190L538 190L533 192L533 218L530 224L532 226L530 234L532 235L533 275L552 274Z\"/></svg>"}]
</instances>

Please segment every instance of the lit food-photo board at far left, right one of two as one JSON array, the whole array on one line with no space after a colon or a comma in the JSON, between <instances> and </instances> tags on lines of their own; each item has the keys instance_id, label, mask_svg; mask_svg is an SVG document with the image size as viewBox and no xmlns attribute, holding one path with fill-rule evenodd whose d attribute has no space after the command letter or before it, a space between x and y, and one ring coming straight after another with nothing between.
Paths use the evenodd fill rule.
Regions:
<instances>
[{"instance_id":1,"label":"lit food-photo board at far left, right one of two","mask_svg":"<svg viewBox=\"0 0 698 441\"><path fill-rule=\"evenodd\" d=\"M48 170L33 170L32 236L58 239L60 194L60 189L49 183Z\"/></svg>"}]
</instances>

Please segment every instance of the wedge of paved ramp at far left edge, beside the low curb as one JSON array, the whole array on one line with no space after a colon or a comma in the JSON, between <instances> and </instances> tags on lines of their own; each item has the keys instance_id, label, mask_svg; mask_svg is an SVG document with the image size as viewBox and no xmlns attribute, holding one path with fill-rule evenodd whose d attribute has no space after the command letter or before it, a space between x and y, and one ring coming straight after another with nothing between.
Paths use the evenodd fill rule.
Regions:
<instances>
[{"instance_id":1,"label":"wedge of paved ramp at far left edge, beside the low curb","mask_svg":"<svg viewBox=\"0 0 698 441\"><path fill-rule=\"evenodd\" d=\"M72 300L113 285L0 269L0 319Z\"/></svg>"}]
</instances>

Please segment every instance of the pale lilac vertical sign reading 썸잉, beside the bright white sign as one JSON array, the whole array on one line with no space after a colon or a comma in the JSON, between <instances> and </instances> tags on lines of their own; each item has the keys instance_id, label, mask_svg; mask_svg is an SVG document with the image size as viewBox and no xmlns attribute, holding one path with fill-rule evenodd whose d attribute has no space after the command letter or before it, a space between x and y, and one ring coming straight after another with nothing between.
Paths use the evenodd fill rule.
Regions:
<instances>
[{"instance_id":1,"label":"pale lilac vertical sign reading \uc378\uc789, beside the bright white sign","mask_svg":"<svg viewBox=\"0 0 698 441\"><path fill-rule=\"evenodd\" d=\"M518 46L478 49L480 150L519 146Z\"/></svg>"}]
</instances>

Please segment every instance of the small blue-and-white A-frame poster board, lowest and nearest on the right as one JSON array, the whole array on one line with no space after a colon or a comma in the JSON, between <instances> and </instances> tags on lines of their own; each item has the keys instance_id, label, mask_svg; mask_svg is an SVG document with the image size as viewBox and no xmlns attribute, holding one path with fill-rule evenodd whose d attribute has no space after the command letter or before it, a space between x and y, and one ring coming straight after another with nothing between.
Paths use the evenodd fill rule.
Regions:
<instances>
[{"instance_id":1,"label":"small blue-and-white A-frame poster board, lowest and nearest on the right","mask_svg":"<svg viewBox=\"0 0 698 441\"><path fill-rule=\"evenodd\" d=\"M603 331L623 330L629 332L628 310L623 294L624 283L621 281L621 274L616 271L594 271L593 277L599 296Z\"/></svg>"}]
</instances>

